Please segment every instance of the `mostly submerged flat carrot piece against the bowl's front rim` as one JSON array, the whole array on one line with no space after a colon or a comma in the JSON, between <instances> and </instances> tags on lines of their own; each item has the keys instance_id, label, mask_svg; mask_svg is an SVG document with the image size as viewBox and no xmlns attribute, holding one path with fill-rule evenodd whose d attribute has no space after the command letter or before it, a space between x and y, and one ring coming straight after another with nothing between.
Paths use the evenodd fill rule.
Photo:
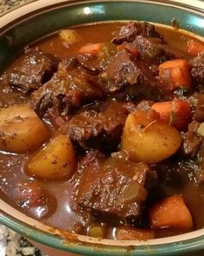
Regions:
<instances>
[{"instance_id":1,"label":"mostly submerged flat carrot piece against the bowl's front rim","mask_svg":"<svg viewBox=\"0 0 204 256\"><path fill-rule=\"evenodd\" d=\"M140 229L133 227L121 227L116 231L118 240L152 240L154 231L150 229Z\"/></svg>"}]
</instances>

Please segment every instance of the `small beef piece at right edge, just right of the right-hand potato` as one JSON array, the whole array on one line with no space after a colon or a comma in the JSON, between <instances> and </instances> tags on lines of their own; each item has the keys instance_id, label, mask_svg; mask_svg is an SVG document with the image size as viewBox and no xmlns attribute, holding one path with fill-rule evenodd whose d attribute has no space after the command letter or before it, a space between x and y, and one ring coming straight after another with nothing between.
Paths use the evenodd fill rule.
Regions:
<instances>
[{"instance_id":1,"label":"small beef piece at right edge, just right of the right-hand potato","mask_svg":"<svg viewBox=\"0 0 204 256\"><path fill-rule=\"evenodd\" d=\"M188 132L184 135L182 144L182 153L190 157L194 157L198 149L201 146L202 137L197 134L197 130L201 123L198 121L192 121L188 125Z\"/></svg>"}]
</instances>

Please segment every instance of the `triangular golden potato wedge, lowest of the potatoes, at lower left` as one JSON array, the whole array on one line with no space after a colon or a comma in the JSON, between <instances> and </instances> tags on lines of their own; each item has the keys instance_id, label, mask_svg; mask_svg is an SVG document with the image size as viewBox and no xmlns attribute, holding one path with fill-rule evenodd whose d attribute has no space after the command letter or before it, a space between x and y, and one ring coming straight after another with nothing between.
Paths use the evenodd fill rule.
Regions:
<instances>
[{"instance_id":1,"label":"triangular golden potato wedge, lowest of the potatoes, at lower left","mask_svg":"<svg viewBox=\"0 0 204 256\"><path fill-rule=\"evenodd\" d=\"M56 135L29 158L25 171L40 179L71 177L76 168L73 145L67 135Z\"/></svg>"}]
</instances>

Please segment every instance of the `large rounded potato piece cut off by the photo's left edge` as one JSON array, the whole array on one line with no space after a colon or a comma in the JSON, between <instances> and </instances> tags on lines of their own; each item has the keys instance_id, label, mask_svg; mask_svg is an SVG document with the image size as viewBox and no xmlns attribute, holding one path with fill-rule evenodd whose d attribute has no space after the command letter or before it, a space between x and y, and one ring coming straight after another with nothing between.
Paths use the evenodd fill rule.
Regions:
<instances>
[{"instance_id":1,"label":"large rounded potato piece cut off by the photo's left edge","mask_svg":"<svg viewBox=\"0 0 204 256\"><path fill-rule=\"evenodd\" d=\"M48 138L48 129L28 105L0 111L0 150L26 153L41 147Z\"/></svg>"}]
</instances>

